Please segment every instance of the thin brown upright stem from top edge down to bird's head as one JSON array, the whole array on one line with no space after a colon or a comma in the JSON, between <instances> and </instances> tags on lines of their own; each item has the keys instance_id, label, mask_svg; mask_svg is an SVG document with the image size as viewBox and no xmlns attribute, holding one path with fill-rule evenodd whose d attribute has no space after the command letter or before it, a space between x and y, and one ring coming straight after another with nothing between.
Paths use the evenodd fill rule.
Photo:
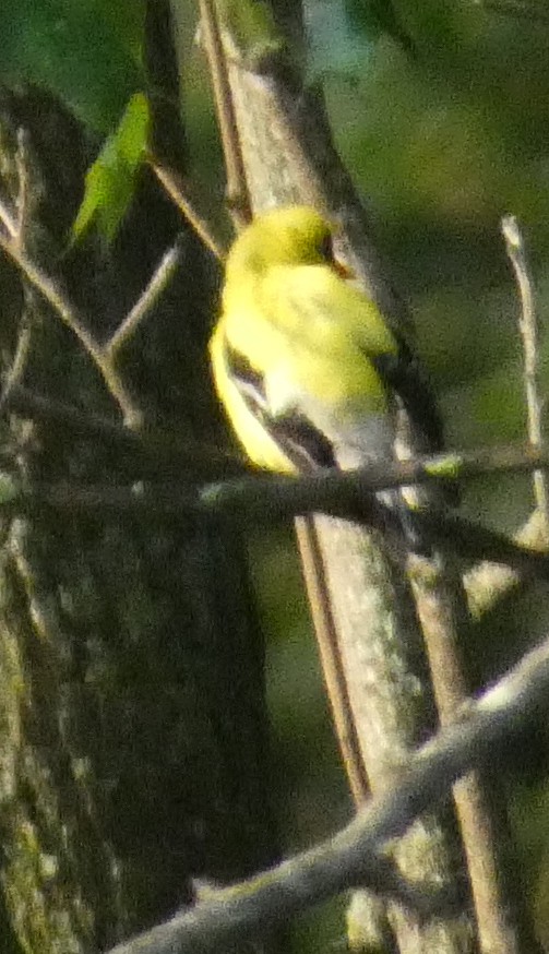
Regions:
<instances>
[{"instance_id":1,"label":"thin brown upright stem from top edge down to bird's head","mask_svg":"<svg viewBox=\"0 0 549 954\"><path fill-rule=\"evenodd\" d=\"M250 220L251 203L219 22L212 0L200 0L200 15L225 158L227 202L237 228L242 228Z\"/></svg>"}]
</instances>

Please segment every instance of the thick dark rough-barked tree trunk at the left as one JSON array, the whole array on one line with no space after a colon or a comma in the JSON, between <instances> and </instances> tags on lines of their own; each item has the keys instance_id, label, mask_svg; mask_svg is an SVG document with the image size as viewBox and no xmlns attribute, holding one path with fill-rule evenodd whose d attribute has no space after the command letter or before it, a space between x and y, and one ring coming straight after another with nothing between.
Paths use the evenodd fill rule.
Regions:
<instances>
[{"instance_id":1,"label":"thick dark rough-barked tree trunk at the left","mask_svg":"<svg viewBox=\"0 0 549 954\"><path fill-rule=\"evenodd\" d=\"M89 160L81 130L41 94L4 94L0 151L14 215L24 169L27 254L102 339L181 222L145 181L112 248L89 239L61 259ZM0 269L4 381L17 342L24 358L1 425L3 469L31 488L169 476L169 454L156 462L87 428L92 413L117 419L88 355L12 265ZM189 235L183 267L124 355L146 426L163 421L175 444L216 439L211 286ZM63 421L57 405L31 419L23 386L82 420ZM5 515L1 528L7 932L14 950L96 951L192 899L194 879L237 879L274 858L262 645L240 540L234 528L100 508Z\"/></svg>"}]
</instances>

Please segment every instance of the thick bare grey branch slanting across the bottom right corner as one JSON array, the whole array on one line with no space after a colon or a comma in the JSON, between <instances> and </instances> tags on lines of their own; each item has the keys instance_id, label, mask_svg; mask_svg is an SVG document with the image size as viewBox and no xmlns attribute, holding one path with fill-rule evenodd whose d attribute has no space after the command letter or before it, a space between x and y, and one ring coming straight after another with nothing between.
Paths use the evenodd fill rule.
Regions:
<instances>
[{"instance_id":1,"label":"thick bare grey branch slanting across the bottom right corner","mask_svg":"<svg viewBox=\"0 0 549 954\"><path fill-rule=\"evenodd\" d=\"M259 938L372 874L386 843L432 809L450 786L490 763L538 706L547 706L549 641L526 654L477 702L403 764L398 785L327 842L241 884L212 892L207 899L130 941L110 954L210 954L224 945ZM373 858L373 867L372 864Z\"/></svg>"}]
</instances>

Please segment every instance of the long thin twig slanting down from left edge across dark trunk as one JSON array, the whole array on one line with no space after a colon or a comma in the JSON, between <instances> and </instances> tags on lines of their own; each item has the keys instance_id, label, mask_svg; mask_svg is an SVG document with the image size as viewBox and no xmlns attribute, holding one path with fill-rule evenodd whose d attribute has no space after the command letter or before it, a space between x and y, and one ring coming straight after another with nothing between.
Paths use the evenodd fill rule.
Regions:
<instances>
[{"instance_id":1,"label":"long thin twig slanting down from left edge across dark trunk","mask_svg":"<svg viewBox=\"0 0 549 954\"><path fill-rule=\"evenodd\" d=\"M139 430L143 424L143 414L136 407L127 391L112 362L87 331L76 308L69 301L55 281L36 265L25 251L17 248L14 240L5 238L0 232L0 248L23 273L25 278L40 293L57 312L63 324L69 327L89 355L105 381L107 390L118 404L127 427Z\"/></svg>"}]
</instances>

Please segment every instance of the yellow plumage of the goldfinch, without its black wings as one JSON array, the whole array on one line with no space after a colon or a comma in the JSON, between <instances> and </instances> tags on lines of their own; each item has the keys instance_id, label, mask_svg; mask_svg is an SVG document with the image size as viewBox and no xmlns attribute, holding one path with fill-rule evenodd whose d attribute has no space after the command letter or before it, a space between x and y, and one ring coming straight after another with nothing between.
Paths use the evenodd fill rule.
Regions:
<instances>
[{"instance_id":1,"label":"yellow plumage of the goldfinch, without its black wings","mask_svg":"<svg viewBox=\"0 0 549 954\"><path fill-rule=\"evenodd\" d=\"M227 259L211 342L214 380L248 455L271 469L294 465L231 378L235 356L261 381L270 420L299 415L335 451L347 440L367 448L371 421L372 434L386 434L367 456L390 453L389 401L374 359L396 357L398 346L373 302L337 273L332 232L313 208L276 208L244 229Z\"/></svg>"}]
</instances>

